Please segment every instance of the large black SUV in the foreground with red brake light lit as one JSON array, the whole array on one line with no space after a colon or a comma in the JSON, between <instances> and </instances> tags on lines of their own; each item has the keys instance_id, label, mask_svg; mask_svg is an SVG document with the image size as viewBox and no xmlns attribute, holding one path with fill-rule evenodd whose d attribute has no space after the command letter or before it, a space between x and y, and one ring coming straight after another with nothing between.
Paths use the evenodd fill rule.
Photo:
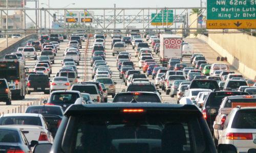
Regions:
<instances>
[{"instance_id":1,"label":"large black SUV in the foreground with red brake light lit","mask_svg":"<svg viewBox=\"0 0 256 153\"><path fill-rule=\"evenodd\" d=\"M216 153L202 113L194 105L105 103L72 105L54 144L34 152Z\"/></svg>"}]
</instances>

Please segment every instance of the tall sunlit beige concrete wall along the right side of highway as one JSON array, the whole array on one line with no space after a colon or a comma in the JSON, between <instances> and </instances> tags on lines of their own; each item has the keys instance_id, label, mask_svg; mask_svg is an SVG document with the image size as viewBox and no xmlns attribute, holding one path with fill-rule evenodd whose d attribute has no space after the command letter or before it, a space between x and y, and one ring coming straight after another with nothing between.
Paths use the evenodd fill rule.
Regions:
<instances>
[{"instance_id":1,"label":"tall sunlit beige concrete wall along the right side of highway","mask_svg":"<svg viewBox=\"0 0 256 153\"><path fill-rule=\"evenodd\" d=\"M238 69L246 78L256 79L256 37L246 34L197 35L216 50L228 63Z\"/></svg>"}]
</instances>

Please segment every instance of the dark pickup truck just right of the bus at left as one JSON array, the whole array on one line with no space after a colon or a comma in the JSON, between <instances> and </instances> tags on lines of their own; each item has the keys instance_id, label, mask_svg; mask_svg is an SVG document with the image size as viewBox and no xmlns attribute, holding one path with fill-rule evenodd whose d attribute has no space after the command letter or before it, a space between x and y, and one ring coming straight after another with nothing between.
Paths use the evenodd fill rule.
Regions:
<instances>
[{"instance_id":1,"label":"dark pickup truck just right of the bus at left","mask_svg":"<svg viewBox=\"0 0 256 153\"><path fill-rule=\"evenodd\" d=\"M44 92L50 94L50 80L47 75L29 75L27 80L27 94L31 92Z\"/></svg>"}]
</instances>

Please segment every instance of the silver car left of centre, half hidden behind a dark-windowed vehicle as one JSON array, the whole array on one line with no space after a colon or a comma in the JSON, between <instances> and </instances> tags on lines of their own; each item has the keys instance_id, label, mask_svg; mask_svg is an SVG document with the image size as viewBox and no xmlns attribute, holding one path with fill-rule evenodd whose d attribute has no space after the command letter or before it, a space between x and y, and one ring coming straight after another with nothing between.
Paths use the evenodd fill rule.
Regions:
<instances>
[{"instance_id":1,"label":"silver car left of centre, half hidden behind a dark-windowed vehicle","mask_svg":"<svg viewBox=\"0 0 256 153\"><path fill-rule=\"evenodd\" d=\"M112 98L116 95L116 82L111 78L98 78L95 82L103 83L108 90L108 95L112 95Z\"/></svg>"}]
</instances>

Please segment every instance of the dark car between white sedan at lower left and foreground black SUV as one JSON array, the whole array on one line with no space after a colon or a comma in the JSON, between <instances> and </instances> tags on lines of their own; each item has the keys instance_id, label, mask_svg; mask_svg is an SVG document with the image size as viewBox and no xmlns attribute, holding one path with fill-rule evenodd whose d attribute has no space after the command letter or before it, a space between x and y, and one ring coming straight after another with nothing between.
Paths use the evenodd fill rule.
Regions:
<instances>
[{"instance_id":1,"label":"dark car between white sedan at lower left and foreground black SUV","mask_svg":"<svg viewBox=\"0 0 256 153\"><path fill-rule=\"evenodd\" d=\"M60 106L41 106L41 105L34 105L34 106L29 106L25 113L35 113L35 114L41 114L44 116L47 127L51 131L51 134L53 138L56 135L56 132L58 130L58 127L60 125L60 122L63 117L63 110Z\"/></svg>"}]
</instances>

